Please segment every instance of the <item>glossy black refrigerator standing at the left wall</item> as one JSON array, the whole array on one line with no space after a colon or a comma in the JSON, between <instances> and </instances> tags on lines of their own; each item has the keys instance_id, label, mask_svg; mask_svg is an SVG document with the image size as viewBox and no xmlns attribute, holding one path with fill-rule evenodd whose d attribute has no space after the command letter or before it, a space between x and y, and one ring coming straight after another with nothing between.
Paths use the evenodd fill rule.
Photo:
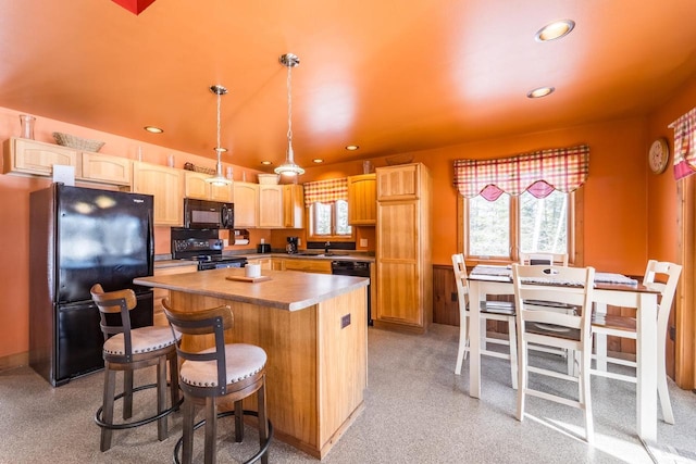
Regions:
<instances>
[{"instance_id":1,"label":"glossy black refrigerator standing at the left wall","mask_svg":"<svg viewBox=\"0 0 696 464\"><path fill-rule=\"evenodd\" d=\"M152 196L53 184L29 195L29 365L52 386L103 368L89 289L132 288L133 327L152 325Z\"/></svg>"}]
</instances>

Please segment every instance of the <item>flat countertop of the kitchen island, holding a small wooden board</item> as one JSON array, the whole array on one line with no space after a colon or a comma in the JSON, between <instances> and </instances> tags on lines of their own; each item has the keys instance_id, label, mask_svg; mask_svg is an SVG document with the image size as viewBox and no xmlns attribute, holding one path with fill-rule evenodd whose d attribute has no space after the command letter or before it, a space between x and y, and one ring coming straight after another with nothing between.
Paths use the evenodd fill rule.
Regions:
<instances>
[{"instance_id":1,"label":"flat countertop of the kitchen island, holding a small wooden board","mask_svg":"<svg viewBox=\"0 0 696 464\"><path fill-rule=\"evenodd\" d=\"M249 283L228 280L227 276L244 276L244 268L221 268L197 273L138 277L134 284L175 291L222 298L279 310L298 311L322 301L366 287L364 277L302 273L297 271L263 271L268 280Z\"/></svg>"}]
</instances>

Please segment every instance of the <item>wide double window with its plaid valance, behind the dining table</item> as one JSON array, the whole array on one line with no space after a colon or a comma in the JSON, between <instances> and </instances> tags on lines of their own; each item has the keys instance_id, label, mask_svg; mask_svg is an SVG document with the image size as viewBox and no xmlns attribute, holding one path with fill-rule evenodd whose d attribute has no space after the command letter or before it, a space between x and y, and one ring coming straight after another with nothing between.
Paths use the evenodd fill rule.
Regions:
<instances>
[{"instance_id":1,"label":"wide double window with its plaid valance, behind the dining table","mask_svg":"<svg viewBox=\"0 0 696 464\"><path fill-rule=\"evenodd\" d=\"M582 263L575 212L582 214L579 189L588 172L586 145L455 160L459 249L470 260L517 261L520 251L548 251Z\"/></svg>"}]
</instances>

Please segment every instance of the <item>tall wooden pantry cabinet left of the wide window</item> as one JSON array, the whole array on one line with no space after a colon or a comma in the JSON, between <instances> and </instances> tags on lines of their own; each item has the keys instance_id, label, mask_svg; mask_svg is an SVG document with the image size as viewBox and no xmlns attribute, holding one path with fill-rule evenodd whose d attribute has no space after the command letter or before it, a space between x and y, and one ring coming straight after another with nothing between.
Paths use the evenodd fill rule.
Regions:
<instances>
[{"instance_id":1,"label":"tall wooden pantry cabinet left of the wide window","mask_svg":"<svg viewBox=\"0 0 696 464\"><path fill-rule=\"evenodd\" d=\"M431 176L421 163L378 167L375 327L425 333L433 321Z\"/></svg>"}]
</instances>

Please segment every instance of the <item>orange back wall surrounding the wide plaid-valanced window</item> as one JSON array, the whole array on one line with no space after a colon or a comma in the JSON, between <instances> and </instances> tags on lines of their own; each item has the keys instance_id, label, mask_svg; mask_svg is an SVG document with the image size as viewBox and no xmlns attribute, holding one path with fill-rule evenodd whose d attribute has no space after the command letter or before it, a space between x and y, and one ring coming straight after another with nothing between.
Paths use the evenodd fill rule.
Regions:
<instances>
[{"instance_id":1,"label":"orange back wall surrounding the wide plaid-valanced window","mask_svg":"<svg viewBox=\"0 0 696 464\"><path fill-rule=\"evenodd\" d=\"M433 264L457 252L457 191L453 161L504 158L545 148L589 145L585 190L585 265L642 275L647 259L646 121L609 122L413 152L433 181ZM384 159L373 159L376 167ZM361 174L357 161L308 170L303 181Z\"/></svg>"}]
</instances>

